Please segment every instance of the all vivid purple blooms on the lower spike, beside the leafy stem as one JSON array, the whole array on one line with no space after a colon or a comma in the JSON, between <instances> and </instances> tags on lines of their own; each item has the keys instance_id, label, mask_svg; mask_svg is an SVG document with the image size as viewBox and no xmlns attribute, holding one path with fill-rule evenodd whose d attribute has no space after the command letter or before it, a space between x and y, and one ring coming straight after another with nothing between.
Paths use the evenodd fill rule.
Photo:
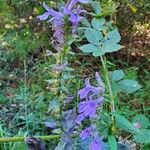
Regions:
<instances>
[{"instance_id":1,"label":"all vivid purple blooms on the lower spike, beside the leafy stem","mask_svg":"<svg viewBox=\"0 0 150 150\"><path fill-rule=\"evenodd\" d=\"M78 124L80 124L85 118L96 118L96 111L98 107L103 104L104 98L101 96L101 94L104 92L104 85L98 72L95 73L95 78L98 83L97 87L92 86L89 82L89 79L86 79L85 87L79 91L79 96L82 101L78 105L79 115L76 119ZM81 139L87 139L90 136L94 136L94 140L90 144L89 149L101 150L102 141L98 137L93 126L87 127L80 133Z\"/></svg>"}]
</instances>

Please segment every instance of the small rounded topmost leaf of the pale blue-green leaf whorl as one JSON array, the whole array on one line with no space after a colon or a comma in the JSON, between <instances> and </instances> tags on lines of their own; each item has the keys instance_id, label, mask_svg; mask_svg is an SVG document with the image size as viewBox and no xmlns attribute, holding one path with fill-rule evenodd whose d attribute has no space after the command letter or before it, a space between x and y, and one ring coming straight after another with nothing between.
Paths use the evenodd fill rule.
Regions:
<instances>
[{"instance_id":1,"label":"small rounded topmost leaf of the pale blue-green leaf whorl","mask_svg":"<svg viewBox=\"0 0 150 150\"><path fill-rule=\"evenodd\" d=\"M99 29L102 25L105 24L105 19L104 18L102 18L102 19L93 18L91 24L92 24L93 28Z\"/></svg>"}]
</instances>

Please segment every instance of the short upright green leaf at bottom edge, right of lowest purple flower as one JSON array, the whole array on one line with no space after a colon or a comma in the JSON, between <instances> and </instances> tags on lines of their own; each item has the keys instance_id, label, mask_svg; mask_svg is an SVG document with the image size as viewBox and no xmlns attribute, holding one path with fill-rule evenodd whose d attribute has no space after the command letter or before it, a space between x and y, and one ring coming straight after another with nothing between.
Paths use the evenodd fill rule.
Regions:
<instances>
[{"instance_id":1,"label":"short upright green leaf at bottom edge, right of lowest purple flower","mask_svg":"<svg viewBox=\"0 0 150 150\"><path fill-rule=\"evenodd\" d=\"M117 150L117 141L116 141L115 136L109 135L108 143L109 143L110 150Z\"/></svg>"}]
</instances>

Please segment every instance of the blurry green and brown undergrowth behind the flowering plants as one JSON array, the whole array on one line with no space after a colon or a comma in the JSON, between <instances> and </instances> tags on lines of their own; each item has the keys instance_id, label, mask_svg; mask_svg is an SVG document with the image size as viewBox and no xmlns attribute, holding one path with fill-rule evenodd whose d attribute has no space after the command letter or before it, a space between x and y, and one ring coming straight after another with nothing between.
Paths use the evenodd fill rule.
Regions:
<instances>
[{"instance_id":1,"label":"blurry green and brown undergrowth behind the flowering plants","mask_svg":"<svg viewBox=\"0 0 150 150\"><path fill-rule=\"evenodd\" d=\"M126 72L125 78L136 79L142 85L134 94L120 94L117 107L130 121L136 114L149 117L150 3L148 0L99 1L105 17L118 26L124 46L120 52L108 55L109 70L120 67ZM57 5L50 0L0 0L0 137L50 134L43 122L51 120L51 113L57 117L57 109L51 112L55 106L54 94L47 82L53 76L50 65L55 61L47 57L47 50L52 49L52 33L47 23L36 19L44 12L40 2ZM70 60L76 72L84 77L92 76L92 71L101 66L92 57L83 58L76 45L72 47L74 55ZM70 88L74 93L81 86L82 77L79 75L72 82L74 87ZM128 136L120 133L119 138L123 140ZM133 149L148 149L147 145L135 145L130 137L123 142L128 142ZM47 143L54 147L55 144ZM16 150L25 145L9 143L0 147Z\"/></svg>"}]
</instances>

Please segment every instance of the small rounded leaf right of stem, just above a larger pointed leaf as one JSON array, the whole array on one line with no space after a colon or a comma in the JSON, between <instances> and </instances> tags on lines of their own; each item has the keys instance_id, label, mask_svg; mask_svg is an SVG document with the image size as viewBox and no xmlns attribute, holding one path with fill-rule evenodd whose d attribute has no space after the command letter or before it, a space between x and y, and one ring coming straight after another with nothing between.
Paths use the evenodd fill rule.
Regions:
<instances>
[{"instance_id":1,"label":"small rounded leaf right of stem, just above a larger pointed leaf","mask_svg":"<svg viewBox=\"0 0 150 150\"><path fill-rule=\"evenodd\" d=\"M113 81L119 81L124 77L124 72L122 70L115 70L110 72L110 77Z\"/></svg>"}]
</instances>

